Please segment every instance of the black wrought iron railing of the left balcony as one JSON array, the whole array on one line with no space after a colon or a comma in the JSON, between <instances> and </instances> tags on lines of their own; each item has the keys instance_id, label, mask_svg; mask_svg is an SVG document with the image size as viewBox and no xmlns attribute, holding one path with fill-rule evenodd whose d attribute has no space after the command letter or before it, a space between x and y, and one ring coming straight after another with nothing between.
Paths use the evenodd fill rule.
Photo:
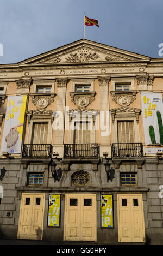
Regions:
<instances>
[{"instance_id":1,"label":"black wrought iron railing of the left balcony","mask_svg":"<svg viewBox=\"0 0 163 256\"><path fill-rule=\"evenodd\" d=\"M24 144L22 146L22 157L51 157L51 144Z\"/></svg>"}]
</instances>

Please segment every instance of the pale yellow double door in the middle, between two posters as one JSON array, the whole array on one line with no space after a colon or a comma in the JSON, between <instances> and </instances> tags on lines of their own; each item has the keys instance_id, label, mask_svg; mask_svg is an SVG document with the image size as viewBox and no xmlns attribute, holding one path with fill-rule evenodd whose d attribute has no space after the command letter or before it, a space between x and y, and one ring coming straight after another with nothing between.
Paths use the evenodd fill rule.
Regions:
<instances>
[{"instance_id":1,"label":"pale yellow double door in the middle, between two posters","mask_svg":"<svg viewBox=\"0 0 163 256\"><path fill-rule=\"evenodd\" d=\"M95 194L66 194L64 240L97 240Z\"/></svg>"}]
</instances>

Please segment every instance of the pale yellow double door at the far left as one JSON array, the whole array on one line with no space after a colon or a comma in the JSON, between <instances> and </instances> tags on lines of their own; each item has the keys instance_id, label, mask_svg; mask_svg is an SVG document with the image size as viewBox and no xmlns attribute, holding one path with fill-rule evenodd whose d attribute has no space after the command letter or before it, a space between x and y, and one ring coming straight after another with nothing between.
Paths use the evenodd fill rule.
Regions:
<instances>
[{"instance_id":1,"label":"pale yellow double door at the far left","mask_svg":"<svg viewBox=\"0 0 163 256\"><path fill-rule=\"evenodd\" d=\"M42 240L45 194L22 194L18 239Z\"/></svg>"}]
</instances>

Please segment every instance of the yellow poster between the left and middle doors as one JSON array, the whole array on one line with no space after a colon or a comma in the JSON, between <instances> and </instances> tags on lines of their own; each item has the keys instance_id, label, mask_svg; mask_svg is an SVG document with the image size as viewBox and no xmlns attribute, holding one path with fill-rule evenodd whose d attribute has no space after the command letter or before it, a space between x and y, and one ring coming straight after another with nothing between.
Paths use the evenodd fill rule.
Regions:
<instances>
[{"instance_id":1,"label":"yellow poster between the left and middle doors","mask_svg":"<svg viewBox=\"0 0 163 256\"><path fill-rule=\"evenodd\" d=\"M60 195L49 195L48 227L60 227Z\"/></svg>"}]
</instances>

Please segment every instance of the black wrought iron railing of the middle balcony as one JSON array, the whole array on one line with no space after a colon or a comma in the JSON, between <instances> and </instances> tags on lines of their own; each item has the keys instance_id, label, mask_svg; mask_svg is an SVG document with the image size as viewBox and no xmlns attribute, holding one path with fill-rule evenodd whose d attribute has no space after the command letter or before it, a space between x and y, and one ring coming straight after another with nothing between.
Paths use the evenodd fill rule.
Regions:
<instances>
[{"instance_id":1,"label":"black wrought iron railing of the middle balcony","mask_svg":"<svg viewBox=\"0 0 163 256\"><path fill-rule=\"evenodd\" d=\"M98 144L65 144L64 157L99 157Z\"/></svg>"}]
</instances>

